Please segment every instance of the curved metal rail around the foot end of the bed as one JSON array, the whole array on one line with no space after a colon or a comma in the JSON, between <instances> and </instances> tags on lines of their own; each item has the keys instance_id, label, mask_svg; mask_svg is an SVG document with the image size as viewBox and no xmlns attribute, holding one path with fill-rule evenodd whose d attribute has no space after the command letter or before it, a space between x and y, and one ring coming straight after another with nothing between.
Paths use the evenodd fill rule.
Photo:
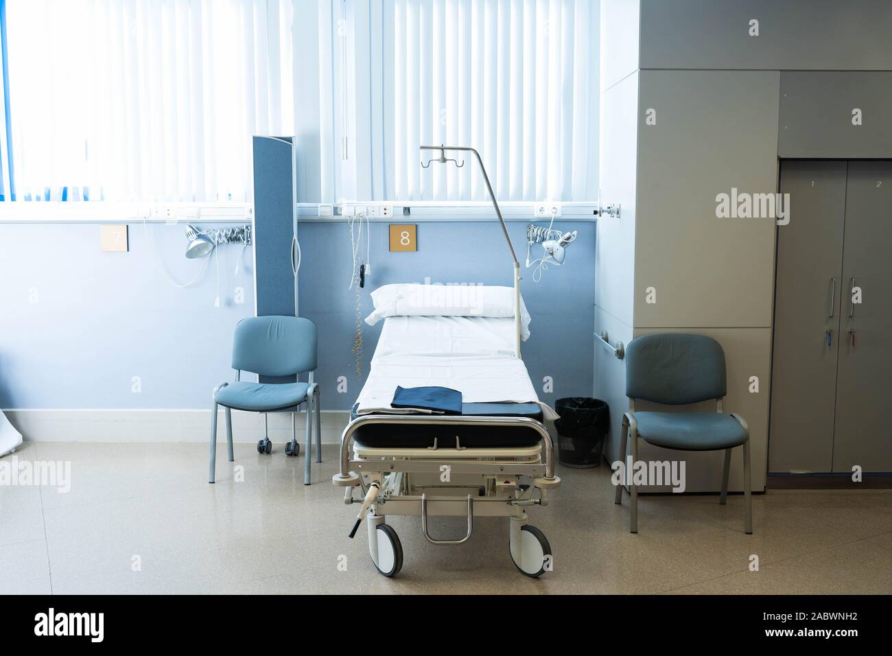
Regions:
<instances>
[{"instance_id":1,"label":"curved metal rail around the foot end of the bed","mask_svg":"<svg viewBox=\"0 0 892 656\"><path fill-rule=\"evenodd\" d=\"M554 463L554 446L545 426L529 417L472 417L469 415L409 415L409 414L367 414L353 419L341 435L341 472L332 477L336 486L350 486L359 478L350 471L350 443L353 434L363 426L372 424L409 424L415 426L508 426L533 428L542 444L545 445L545 477L544 482L556 482Z\"/></svg>"}]
</instances>

